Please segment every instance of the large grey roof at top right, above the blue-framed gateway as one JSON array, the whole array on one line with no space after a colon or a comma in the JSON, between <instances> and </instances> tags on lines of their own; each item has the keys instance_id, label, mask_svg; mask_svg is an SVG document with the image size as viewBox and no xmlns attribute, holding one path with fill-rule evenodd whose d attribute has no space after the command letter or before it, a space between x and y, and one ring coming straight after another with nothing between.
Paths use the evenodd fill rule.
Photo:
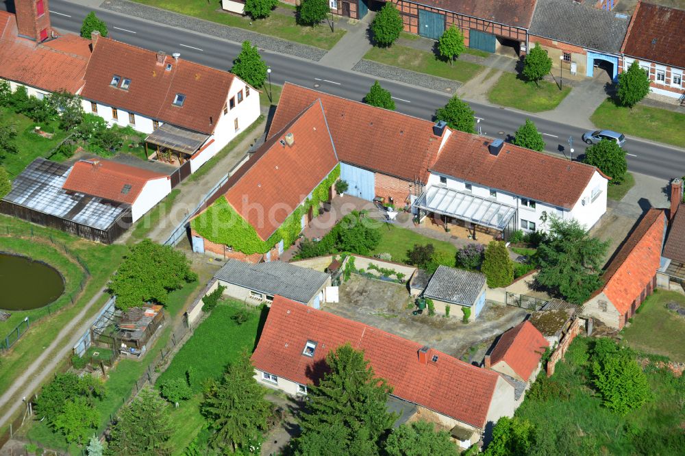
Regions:
<instances>
[{"instance_id":1,"label":"large grey roof at top right, above the blue-framed gateway","mask_svg":"<svg viewBox=\"0 0 685 456\"><path fill-rule=\"evenodd\" d=\"M572 0L538 0L528 33L608 53L619 53L630 16Z\"/></svg>"}]
</instances>

